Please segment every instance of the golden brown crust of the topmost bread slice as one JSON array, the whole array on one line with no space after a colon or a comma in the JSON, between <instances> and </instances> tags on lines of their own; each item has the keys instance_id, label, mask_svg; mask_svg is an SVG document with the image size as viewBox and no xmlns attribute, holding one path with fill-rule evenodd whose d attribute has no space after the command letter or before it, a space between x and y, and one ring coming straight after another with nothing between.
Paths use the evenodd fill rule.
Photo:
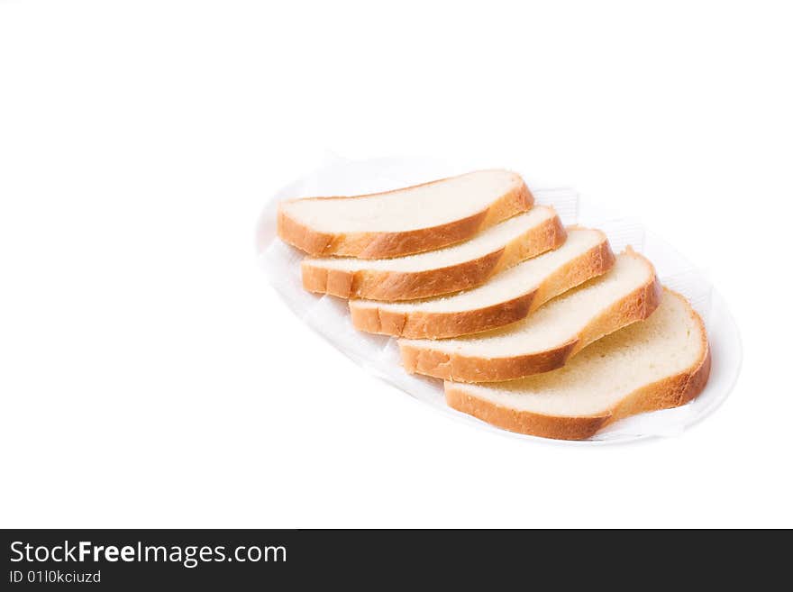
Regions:
<instances>
[{"instance_id":1,"label":"golden brown crust of the topmost bread slice","mask_svg":"<svg viewBox=\"0 0 793 592\"><path fill-rule=\"evenodd\" d=\"M392 191L385 191L382 194L369 194L357 197L394 193L445 180L445 178L438 179L412 187L401 187ZM306 199L340 198L308 197ZM405 232L349 232L340 234L315 231L289 217L282 207L278 207L278 236L282 241L291 244L297 249L305 250L305 252L314 256L338 255L357 257L359 259L387 259L413 255L425 250L440 249L455 242L465 241L493 224L527 211L533 203L532 193L521 179L519 185L507 191L506 194L499 197L487 208L460 220Z\"/></svg>"}]
</instances>

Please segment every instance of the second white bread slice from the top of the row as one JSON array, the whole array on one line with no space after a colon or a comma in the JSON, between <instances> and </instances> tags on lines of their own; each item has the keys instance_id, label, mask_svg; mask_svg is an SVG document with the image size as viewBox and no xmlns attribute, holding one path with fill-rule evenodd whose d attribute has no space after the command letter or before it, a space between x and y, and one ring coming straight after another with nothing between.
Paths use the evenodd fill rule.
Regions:
<instances>
[{"instance_id":1,"label":"second white bread slice from the top of the row","mask_svg":"<svg viewBox=\"0 0 793 592\"><path fill-rule=\"evenodd\" d=\"M484 284L520 261L556 249L567 232L551 207L537 205L525 214L479 232L470 241L441 250L395 259L329 257L303 260L303 286L343 298L411 300L440 296Z\"/></svg>"}]
</instances>

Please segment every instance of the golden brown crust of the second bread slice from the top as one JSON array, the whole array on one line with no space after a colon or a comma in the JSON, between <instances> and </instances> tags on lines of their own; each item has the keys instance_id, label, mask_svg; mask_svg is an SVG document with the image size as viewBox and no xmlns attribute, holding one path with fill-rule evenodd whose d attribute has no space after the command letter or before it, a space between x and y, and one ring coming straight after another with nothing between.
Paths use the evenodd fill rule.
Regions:
<instances>
[{"instance_id":1,"label":"golden brown crust of the second bread slice from the top","mask_svg":"<svg viewBox=\"0 0 793 592\"><path fill-rule=\"evenodd\" d=\"M412 300L441 296L477 287L499 271L531 259L564 243L567 232L554 215L515 241L476 260L424 271L380 271L376 269L329 269L304 260L303 287L311 292L342 298L369 300Z\"/></svg>"}]
</instances>

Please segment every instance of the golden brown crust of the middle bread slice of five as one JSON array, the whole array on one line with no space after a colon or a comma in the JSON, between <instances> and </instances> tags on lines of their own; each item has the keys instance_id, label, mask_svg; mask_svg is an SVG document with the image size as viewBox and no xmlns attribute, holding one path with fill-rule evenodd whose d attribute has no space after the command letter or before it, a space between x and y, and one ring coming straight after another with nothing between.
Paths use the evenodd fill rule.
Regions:
<instances>
[{"instance_id":1,"label":"golden brown crust of the middle bread slice of five","mask_svg":"<svg viewBox=\"0 0 793 592\"><path fill-rule=\"evenodd\" d=\"M603 235L603 241L554 270L537 289L497 305L453 313L396 312L388 310L387 305L362 306L351 300L352 324L360 331L409 339L442 339L488 331L524 319L552 297L605 273L614 261Z\"/></svg>"}]
</instances>

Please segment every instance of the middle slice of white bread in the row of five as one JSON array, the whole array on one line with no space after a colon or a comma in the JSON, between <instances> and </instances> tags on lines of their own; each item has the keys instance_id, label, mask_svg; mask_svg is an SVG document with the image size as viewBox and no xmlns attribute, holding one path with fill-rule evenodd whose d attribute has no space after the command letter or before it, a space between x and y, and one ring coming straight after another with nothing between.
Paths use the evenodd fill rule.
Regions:
<instances>
[{"instance_id":1,"label":"middle slice of white bread in the row of five","mask_svg":"<svg viewBox=\"0 0 793 592\"><path fill-rule=\"evenodd\" d=\"M465 292L414 302L351 300L352 323L361 331L412 339L487 331L520 321L613 264L614 254L603 232L571 229L559 249L518 263Z\"/></svg>"}]
</instances>

